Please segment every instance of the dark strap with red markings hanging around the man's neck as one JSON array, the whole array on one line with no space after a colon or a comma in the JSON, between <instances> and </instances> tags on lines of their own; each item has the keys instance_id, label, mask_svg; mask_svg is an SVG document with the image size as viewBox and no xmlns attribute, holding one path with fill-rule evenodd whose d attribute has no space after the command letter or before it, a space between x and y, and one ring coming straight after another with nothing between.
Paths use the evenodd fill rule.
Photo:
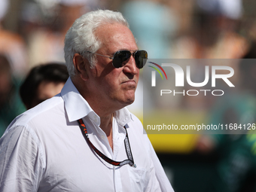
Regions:
<instances>
[{"instance_id":1,"label":"dark strap with red markings hanging around the man's neck","mask_svg":"<svg viewBox=\"0 0 256 192\"><path fill-rule=\"evenodd\" d=\"M88 136L88 132L87 132L87 127L85 126L83 120L82 119L78 120L78 123L79 123L80 129L81 129L81 132L84 135L84 138L87 140L87 142L93 148L93 151L95 151L96 154L98 154L99 157L102 158L102 160L105 160L106 162L108 162L108 163L110 163L111 165L114 165L114 166L123 166L123 165L129 164L130 166L133 166L133 167L136 168L136 164L134 164L134 161L133 161L133 154L132 154L132 151L131 151L131 148L130 148L130 142L129 142L129 139L128 139L128 133L126 131L126 127L125 126L123 126L124 130L126 131L126 137L124 139L124 146L126 148L126 154L127 154L128 160L123 160L123 161L119 162L119 161L111 160L110 158L106 157L105 154L102 154L102 152L100 152L93 145L93 143L90 142L90 139L89 139L89 136Z\"/></svg>"}]
</instances>

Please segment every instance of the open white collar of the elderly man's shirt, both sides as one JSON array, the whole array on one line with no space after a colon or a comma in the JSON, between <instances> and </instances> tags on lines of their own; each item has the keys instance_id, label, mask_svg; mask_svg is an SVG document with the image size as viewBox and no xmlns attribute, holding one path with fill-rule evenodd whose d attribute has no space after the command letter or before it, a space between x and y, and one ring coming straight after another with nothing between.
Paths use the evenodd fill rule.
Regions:
<instances>
[{"instance_id":1,"label":"open white collar of the elderly man's shirt, both sides","mask_svg":"<svg viewBox=\"0 0 256 192\"><path fill-rule=\"evenodd\" d=\"M78 92L71 78L66 81L60 94L64 100L64 105L70 122L79 120L87 115L89 115L89 117L97 116L97 119L99 119L99 116L92 108L90 108L88 102ZM133 120L132 114L127 108L121 108L120 110L115 111L114 117L120 126L125 126L130 120ZM99 123L99 120L95 119L95 121L98 121L97 124Z\"/></svg>"}]
</instances>

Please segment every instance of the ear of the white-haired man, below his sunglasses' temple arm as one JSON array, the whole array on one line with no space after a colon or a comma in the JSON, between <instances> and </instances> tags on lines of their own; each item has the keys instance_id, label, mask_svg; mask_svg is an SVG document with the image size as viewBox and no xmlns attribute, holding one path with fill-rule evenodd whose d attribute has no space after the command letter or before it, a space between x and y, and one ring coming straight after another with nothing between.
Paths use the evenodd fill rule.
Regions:
<instances>
[{"instance_id":1,"label":"ear of the white-haired man, below his sunglasses' temple arm","mask_svg":"<svg viewBox=\"0 0 256 192\"><path fill-rule=\"evenodd\" d=\"M88 79L88 65L89 62L87 59L84 59L83 56L81 56L78 53L75 53L73 56L73 64L75 66L75 69L77 70L78 75L86 81Z\"/></svg>"}]
</instances>

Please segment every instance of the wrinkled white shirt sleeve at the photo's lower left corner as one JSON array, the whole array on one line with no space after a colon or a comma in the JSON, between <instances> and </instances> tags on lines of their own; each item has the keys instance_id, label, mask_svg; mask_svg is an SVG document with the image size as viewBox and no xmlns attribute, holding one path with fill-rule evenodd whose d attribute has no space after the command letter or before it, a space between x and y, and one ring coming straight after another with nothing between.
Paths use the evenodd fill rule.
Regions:
<instances>
[{"instance_id":1,"label":"wrinkled white shirt sleeve at the photo's lower left corner","mask_svg":"<svg viewBox=\"0 0 256 192\"><path fill-rule=\"evenodd\" d=\"M44 170L35 132L11 127L0 139L0 191L37 191Z\"/></svg>"}]
</instances>

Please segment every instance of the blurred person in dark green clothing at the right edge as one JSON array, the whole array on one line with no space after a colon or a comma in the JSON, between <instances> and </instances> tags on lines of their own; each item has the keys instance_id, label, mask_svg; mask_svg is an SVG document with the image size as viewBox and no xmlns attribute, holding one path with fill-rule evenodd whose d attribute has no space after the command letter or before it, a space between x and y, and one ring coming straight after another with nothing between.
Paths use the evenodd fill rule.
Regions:
<instances>
[{"instance_id":1,"label":"blurred person in dark green clothing at the right edge","mask_svg":"<svg viewBox=\"0 0 256 192\"><path fill-rule=\"evenodd\" d=\"M224 126L220 134L203 135L197 151L218 156L215 178L207 191L256 190L256 44L239 63L239 89L215 102L208 124ZM236 123L236 125L235 125ZM251 124L250 130L247 127ZM232 129L225 130L225 126ZM236 127L235 127L236 126ZM246 127L246 129L245 129ZM221 134L222 133L222 134Z\"/></svg>"}]
</instances>

